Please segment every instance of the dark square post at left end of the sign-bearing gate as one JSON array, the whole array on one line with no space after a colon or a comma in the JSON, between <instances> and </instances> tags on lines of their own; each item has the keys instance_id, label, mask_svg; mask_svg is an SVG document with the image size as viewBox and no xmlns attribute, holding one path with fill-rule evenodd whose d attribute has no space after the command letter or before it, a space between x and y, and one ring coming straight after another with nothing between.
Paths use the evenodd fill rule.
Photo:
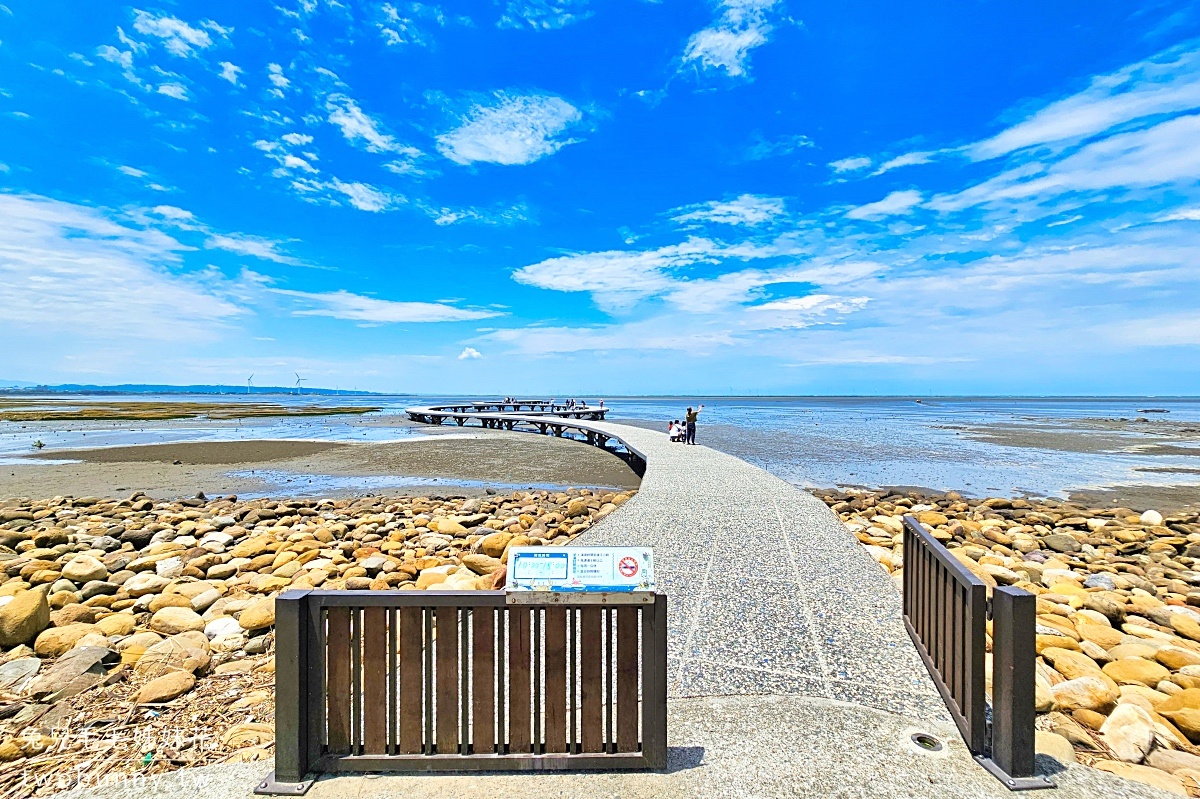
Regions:
<instances>
[{"instance_id":1,"label":"dark square post at left end of the sign-bearing gate","mask_svg":"<svg viewBox=\"0 0 1200 799\"><path fill-rule=\"evenodd\" d=\"M300 795L308 773L308 591L289 590L275 600L275 771L254 793Z\"/></svg>"}]
</instances>

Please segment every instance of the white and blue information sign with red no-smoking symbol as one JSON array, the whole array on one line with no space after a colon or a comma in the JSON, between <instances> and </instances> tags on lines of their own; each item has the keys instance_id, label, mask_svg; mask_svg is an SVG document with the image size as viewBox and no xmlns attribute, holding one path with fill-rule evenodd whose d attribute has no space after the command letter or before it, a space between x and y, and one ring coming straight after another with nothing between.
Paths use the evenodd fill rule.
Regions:
<instances>
[{"instance_id":1,"label":"white and blue information sign with red no-smoking symbol","mask_svg":"<svg viewBox=\"0 0 1200 799\"><path fill-rule=\"evenodd\" d=\"M512 547L509 591L650 591L649 547Z\"/></svg>"}]
</instances>

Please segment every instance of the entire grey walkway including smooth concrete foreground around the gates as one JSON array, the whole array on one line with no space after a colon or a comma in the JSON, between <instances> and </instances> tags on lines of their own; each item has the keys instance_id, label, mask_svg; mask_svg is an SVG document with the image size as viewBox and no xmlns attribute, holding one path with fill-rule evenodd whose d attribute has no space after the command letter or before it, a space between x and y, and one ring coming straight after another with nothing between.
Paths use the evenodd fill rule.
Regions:
<instances>
[{"instance_id":1,"label":"entire grey walkway including smooth concrete foreground around the gates","mask_svg":"<svg viewBox=\"0 0 1200 799\"><path fill-rule=\"evenodd\" d=\"M637 497L578 543L654 547L668 595L668 769L322 777L308 797L1014 795L972 761L904 630L899 593L824 503L703 446L588 426L647 459ZM946 747L919 752L914 732ZM1039 767L1058 785L1046 799L1171 795L1045 757ZM250 799L270 770L217 765L61 795Z\"/></svg>"}]
</instances>

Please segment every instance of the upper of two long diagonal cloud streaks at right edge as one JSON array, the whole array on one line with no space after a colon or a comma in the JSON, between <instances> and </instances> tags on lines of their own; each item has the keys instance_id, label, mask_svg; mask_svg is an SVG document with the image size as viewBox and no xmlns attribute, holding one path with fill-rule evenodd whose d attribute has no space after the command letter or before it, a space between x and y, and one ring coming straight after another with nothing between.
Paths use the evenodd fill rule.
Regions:
<instances>
[{"instance_id":1,"label":"upper of two long diagonal cloud streaks at right edge","mask_svg":"<svg viewBox=\"0 0 1200 799\"><path fill-rule=\"evenodd\" d=\"M1189 42L1098 76L1091 85L967 148L974 160L1086 139L1126 122L1200 107L1200 53Z\"/></svg>"}]
</instances>

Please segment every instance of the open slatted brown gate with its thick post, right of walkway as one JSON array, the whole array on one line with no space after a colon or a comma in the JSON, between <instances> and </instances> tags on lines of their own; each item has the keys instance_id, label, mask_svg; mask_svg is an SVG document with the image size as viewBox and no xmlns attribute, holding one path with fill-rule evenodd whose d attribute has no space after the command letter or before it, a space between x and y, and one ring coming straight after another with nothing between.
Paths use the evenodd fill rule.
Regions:
<instances>
[{"instance_id":1,"label":"open slatted brown gate with its thick post, right of walkway","mask_svg":"<svg viewBox=\"0 0 1200 799\"><path fill-rule=\"evenodd\" d=\"M1050 788L1034 776L1033 661L1037 599L988 587L912 516L904 530L904 623L976 761L1013 791ZM984 657L992 620L991 719Z\"/></svg>"}]
</instances>

